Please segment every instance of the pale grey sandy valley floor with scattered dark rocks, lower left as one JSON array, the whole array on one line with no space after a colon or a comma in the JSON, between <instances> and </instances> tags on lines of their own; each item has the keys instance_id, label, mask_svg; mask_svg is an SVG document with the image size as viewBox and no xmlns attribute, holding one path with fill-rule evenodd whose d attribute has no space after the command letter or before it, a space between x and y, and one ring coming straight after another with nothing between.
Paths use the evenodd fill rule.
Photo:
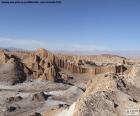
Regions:
<instances>
[{"instance_id":1,"label":"pale grey sandy valley floor with scattered dark rocks, lower left","mask_svg":"<svg viewBox=\"0 0 140 116\"><path fill-rule=\"evenodd\" d=\"M69 107L82 93L83 90L79 87L51 81L38 80L14 86L1 83L0 116L30 116L35 112L43 114L53 108ZM35 94L38 96L33 100ZM19 96L22 97L21 100L7 100ZM9 110L10 107L15 109Z\"/></svg>"}]
</instances>

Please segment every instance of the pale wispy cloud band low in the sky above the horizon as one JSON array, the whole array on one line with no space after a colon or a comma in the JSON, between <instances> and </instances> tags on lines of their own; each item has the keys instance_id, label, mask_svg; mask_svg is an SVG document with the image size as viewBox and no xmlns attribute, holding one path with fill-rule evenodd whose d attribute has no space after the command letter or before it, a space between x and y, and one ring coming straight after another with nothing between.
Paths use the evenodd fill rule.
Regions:
<instances>
[{"instance_id":1,"label":"pale wispy cloud band low in the sky above the horizon","mask_svg":"<svg viewBox=\"0 0 140 116\"><path fill-rule=\"evenodd\" d=\"M92 44L75 44L75 43L56 43L34 39L14 39L0 38L0 47L16 47L22 49L35 50L37 48L46 48L49 50L69 50L69 51L86 51L86 50L106 50L103 46Z\"/></svg>"}]
</instances>

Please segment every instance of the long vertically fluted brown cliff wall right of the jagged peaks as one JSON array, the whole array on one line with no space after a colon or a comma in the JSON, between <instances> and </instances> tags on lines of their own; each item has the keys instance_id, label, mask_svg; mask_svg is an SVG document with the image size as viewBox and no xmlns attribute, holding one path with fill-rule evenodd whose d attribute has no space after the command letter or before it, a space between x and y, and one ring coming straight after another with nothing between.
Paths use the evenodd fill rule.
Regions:
<instances>
[{"instance_id":1,"label":"long vertically fluted brown cliff wall right of the jagged peaks","mask_svg":"<svg viewBox=\"0 0 140 116\"><path fill-rule=\"evenodd\" d=\"M123 59L121 58L117 58L117 59L119 60L118 63L123 61ZM55 64L58 67L66 69L72 73L79 73L79 74L87 73L89 76L95 76L97 74L106 73L106 72L121 73L127 70L125 66L122 65L116 66L115 63L111 63L109 65L107 63L105 63L105 65L103 64L97 65L95 62L93 62L92 60L90 61L88 58L84 59L82 57L80 59L80 57L67 57L67 56L65 57L61 55L55 56Z\"/></svg>"}]
</instances>

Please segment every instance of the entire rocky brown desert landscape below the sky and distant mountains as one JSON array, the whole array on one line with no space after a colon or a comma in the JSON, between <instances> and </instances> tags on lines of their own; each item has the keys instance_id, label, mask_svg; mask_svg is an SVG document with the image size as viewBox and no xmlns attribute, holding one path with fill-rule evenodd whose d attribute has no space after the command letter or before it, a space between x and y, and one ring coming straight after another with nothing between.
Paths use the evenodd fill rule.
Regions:
<instances>
[{"instance_id":1,"label":"entire rocky brown desert landscape below the sky and distant mountains","mask_svg":"<svg viewBox=\"0 0 140 116\"><path fill-rule=\"evenodd\" d=\"M117 55L1 49L0 116L126 116L139 77L139 60Z\"/></svg>"}]
</instances>

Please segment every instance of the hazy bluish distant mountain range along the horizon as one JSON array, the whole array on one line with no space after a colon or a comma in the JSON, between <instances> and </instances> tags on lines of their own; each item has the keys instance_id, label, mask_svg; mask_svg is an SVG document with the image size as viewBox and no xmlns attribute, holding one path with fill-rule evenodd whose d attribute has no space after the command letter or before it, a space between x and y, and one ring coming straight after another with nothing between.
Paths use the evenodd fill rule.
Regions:
<instances>
[{"instance_id":1,"label":"hazy bluish distant mountain range along the horizon","mask_svg":"<svg viewBox=\"0 0 140 116\"><path fill-rule=\"evenodd\" d=\"M22 48L8 47L2 48L6 51L30 51ZM52 50L50 50L52 51ZM61 54L73 54L73 55L101 55L101 54L113 54L119 55L127 58L140 58L140 50L85 50L85 51L67 51L67 50L53 50L53 53L61 53Z\"/></svg>"}]
</instances>

